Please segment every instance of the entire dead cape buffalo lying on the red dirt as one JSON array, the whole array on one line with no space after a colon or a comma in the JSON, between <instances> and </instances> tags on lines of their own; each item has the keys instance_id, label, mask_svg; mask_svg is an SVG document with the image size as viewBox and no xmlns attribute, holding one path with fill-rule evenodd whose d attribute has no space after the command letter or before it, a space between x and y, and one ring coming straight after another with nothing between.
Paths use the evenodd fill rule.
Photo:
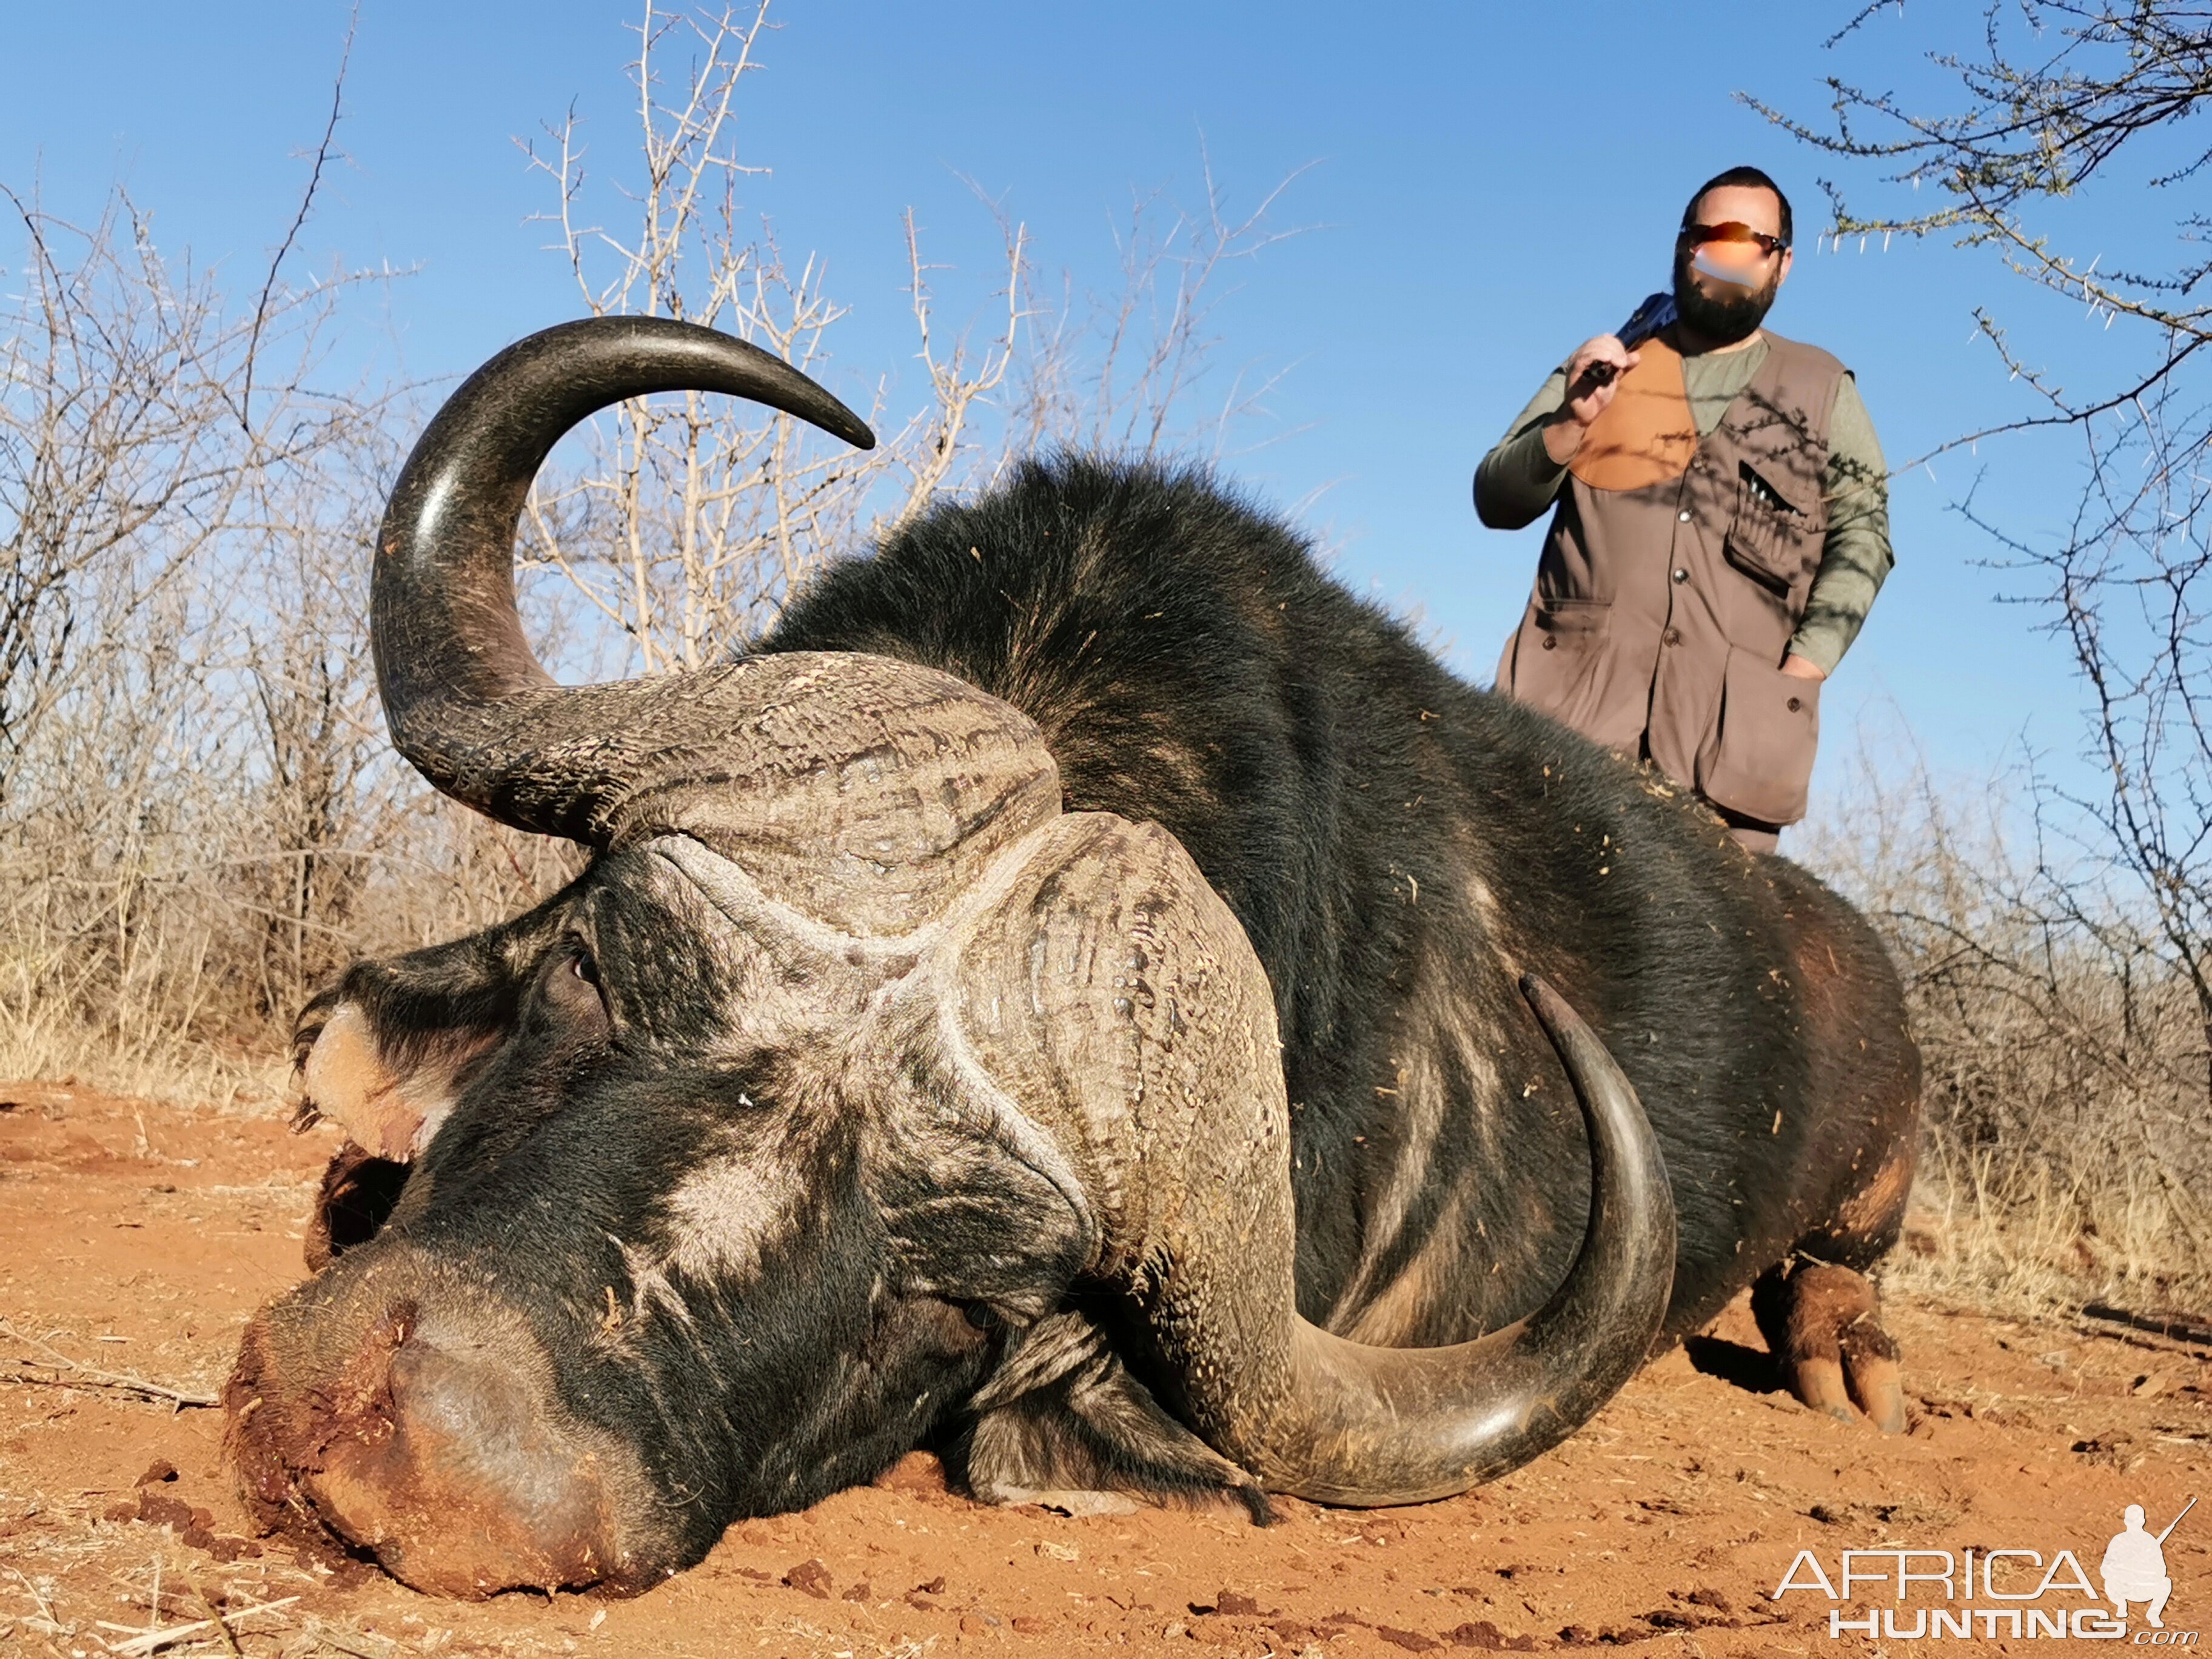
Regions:
<instances>
[{"instance_id":1,"label":"entire dead cape buffalo lying on the red dirt","mask_svg":"<svg viewBox=\"0 0 2212 1659\"><path fill-rule=\"evenodd\" d=\"M394 491L394 741L595 856L301 1015L352 1146L228 1389L265 1526L487 1595L641 1588L925 1442L1000 1502L1413 1502L1754 1281L1807 1402L1902 1422L1856 1270L1918 1057L1834 894L1150 465L1024 467L739 661L555 686L524 491L679 387L872 442L608 319Z\"/></svg>"}]
</instances>

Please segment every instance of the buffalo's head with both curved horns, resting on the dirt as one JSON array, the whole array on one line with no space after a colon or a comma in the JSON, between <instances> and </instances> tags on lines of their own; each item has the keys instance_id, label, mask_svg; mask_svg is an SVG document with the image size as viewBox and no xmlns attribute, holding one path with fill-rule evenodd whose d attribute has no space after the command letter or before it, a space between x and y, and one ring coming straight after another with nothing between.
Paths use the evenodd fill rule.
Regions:
<instances>
[{"instance_id":1,"label":"buffalo's head with both curved horns, resting on the dirt","mask_svg":"<svg viewBox=\"0 0 2212 1659\"><path fill-rule=\"evenodd\" d=\"M1584 1422L1659 1327L1672 1208L1548 991L1590 1126L1579 1261L1509 1329L1363 1347L1296 1312L1267 978L1172 836L1064 814L1029 719L931 668L549 681L513 602L524 491L593 409L677 387L872 442L748 345L608 319L487 365L396 487L394 739L595 858L303 1015L305 1102L349 1150L321 1270L228 1391L263 1520L431 1590L639 1588L880 1471L1077 1296L1254 1493L1433 1498Z\"/></svg>"}]
</instances>

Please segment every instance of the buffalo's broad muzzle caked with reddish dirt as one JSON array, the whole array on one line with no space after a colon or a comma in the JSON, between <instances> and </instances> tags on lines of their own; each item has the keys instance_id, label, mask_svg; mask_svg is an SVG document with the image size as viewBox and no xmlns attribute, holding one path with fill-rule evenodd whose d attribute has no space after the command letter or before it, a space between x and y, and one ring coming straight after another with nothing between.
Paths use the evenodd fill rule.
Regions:
<instances>
[{"instance_id":1,"label":"buffalo's broad muzzle caked with reddish dirt","mask_svg":"<svg viewBox=\"0 0 2212 1659\"><path fill-rule=\"evenodd\" d=\"M635 1458L560 1411L518 1316L361 1312L279 1303L248 1332L232 1455L272 1531L321 1526L436 1595L653 1577L624 1537Z\"/></svg>"}]
</instances>

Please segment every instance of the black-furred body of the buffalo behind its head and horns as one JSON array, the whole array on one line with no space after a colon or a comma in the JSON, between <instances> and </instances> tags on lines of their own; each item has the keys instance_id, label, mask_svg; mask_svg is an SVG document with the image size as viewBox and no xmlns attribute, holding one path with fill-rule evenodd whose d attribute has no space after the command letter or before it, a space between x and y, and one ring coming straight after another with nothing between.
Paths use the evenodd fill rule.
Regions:
<instances>
[{"instance_id":1,"label":"black-furred body of the buffalo behind its head and horns","mask_svg":"<svg viewBox=\"0 0 2212 1659\"><path fill-rule=\"evenodd\" d=\"M1453 1241L1462 1283L1427 1285L1398 1340L1517 1318L1571 1261L1582 1121L1500 951L1579 1006L1652 1119L1681 1228L1668 1336L1792 1250L1856 1267L1893 1243L1900 1203L1845 1219L1918 1099L1858 916L1648 770L1458 681L1206 473L1024 465L830 568L761 650L945 668L1037 721L1068 810L1190 849L1274 987L1310 1318L1356 1329L1438 1223L1482 1243ZM1471 1033L1493 1066L1429 1055L1447 1099L1416 1126L1398 1084L1438 1048L1418 1006L1438 978L1495 1022Z\"/></svg>"}]
</instances>

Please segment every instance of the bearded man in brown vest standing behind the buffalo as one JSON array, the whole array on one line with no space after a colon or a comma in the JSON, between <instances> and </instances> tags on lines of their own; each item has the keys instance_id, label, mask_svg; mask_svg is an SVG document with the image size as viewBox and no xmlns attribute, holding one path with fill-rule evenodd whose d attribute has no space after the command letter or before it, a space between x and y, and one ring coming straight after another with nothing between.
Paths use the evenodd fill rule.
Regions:
<instances>
[{"instance_id":1,"label":"bearded man in brown vest standing behind the buffalo","mask_svg":"<svg viewBox=\"0 0 2212 1659\"><path fill-rule=\"evenodd\" d=\"M1761 327L1790 259L1774 179L1710 179L1674 239L1674 321L1575 347L1475 469L1491 529L1555 507L1498 688L1652 761L1756 852L1805 816L1820 681L1891 566L1851 372Z\"/></svg>"}]
</instances>

